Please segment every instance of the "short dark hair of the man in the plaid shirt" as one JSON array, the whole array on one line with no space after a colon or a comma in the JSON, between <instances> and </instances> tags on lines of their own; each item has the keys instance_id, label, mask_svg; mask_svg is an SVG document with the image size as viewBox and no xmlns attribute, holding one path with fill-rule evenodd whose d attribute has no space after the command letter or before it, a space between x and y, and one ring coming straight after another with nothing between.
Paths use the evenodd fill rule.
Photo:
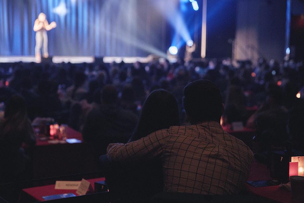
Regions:
<instances>
[{"instance_id":1,"label":"short dark hair of the man in the plaid shirt","mask_svg":"<svg viewBox=\"0 0 304 203\"><path fill-rule=\"evenodd\" d=\"M219 121L222 103L219 88L209 80L195 80L184 88L183 105L191 123Z\"/></svg>"}]
</instances>

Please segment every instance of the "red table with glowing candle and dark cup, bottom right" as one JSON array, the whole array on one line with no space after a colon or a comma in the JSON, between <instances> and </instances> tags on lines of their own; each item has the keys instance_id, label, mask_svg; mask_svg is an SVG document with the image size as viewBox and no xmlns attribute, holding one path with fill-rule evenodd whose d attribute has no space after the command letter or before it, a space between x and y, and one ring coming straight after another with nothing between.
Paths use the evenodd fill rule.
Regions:
<instances>
[{"instance_id":1,"label":"red table with glowing candle and dark cup, bottom right","mask_svg":"<svg viewBox=\"0 0 304 203\"><path fill-rule=\"evenodd\" d=\"M249 181L254 180L274 180L270 177L270 169L267 169L267 166L254 160L250 175L248 178ZM291 192L280 189L278 185L267 186L267 187L253 187L245 183L245 190L250 194L255 194L260 197L264 197L270 200L275 200L278 202L297 202L292 200Z\"/></svg>"}]
</instances>

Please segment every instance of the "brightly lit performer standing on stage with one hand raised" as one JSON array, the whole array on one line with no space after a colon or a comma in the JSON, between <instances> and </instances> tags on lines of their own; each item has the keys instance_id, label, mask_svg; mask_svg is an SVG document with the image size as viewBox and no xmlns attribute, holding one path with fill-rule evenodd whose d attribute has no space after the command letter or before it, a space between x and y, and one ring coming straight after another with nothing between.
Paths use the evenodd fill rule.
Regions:
<instances>
[{"instance_id":1,"label":"brightly lit performer standing on stage with one hand raised","mask_svg":"<svg viewBox=\"0 0 304 203\"><path fill-rule=\"evenodd\" d=\"M49 53L47 52L47 31L55 28L57 24L53 21L50 24L47 22L46 16L44 13L40 13L38 18L34 23L34 31L36 32L36 46L35 46L35 58L36 62L41 62L40 49L43 42L43 57L49 57Z\"/></svg>"}]
</instances>

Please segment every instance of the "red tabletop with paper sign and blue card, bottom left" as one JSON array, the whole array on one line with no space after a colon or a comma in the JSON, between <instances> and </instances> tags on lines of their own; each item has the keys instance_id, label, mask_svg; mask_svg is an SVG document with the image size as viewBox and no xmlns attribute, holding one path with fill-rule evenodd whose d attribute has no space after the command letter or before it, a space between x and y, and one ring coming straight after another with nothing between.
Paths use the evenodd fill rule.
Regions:
<instances>
[{"instance_id":1,"label":"red tabletop with paper sign and blue card, bottom left","mask_svg":"<svg viewBox=\"0 0 304 203\"><path fill-rule=\"evenodd\" d=\"M95 190L94 183L97 181L104 181L104 177L88 179L91 183L93 190ZM76 196L76 190L61 190L55 189L55 184L53 185L45 185L40 187L30 187L22 189L21 194L19 196L19 202L31 202L31 201L45 201L42 197L49 196L54 194L64 194L64 193L73 193Z\"/></svg>"}]
</instances>

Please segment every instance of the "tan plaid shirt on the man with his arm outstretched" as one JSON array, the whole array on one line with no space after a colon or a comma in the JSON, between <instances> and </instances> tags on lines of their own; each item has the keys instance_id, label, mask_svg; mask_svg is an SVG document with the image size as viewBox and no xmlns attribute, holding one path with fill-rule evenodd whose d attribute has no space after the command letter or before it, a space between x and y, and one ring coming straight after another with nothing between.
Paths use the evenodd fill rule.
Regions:
<instances>
[{"instance_id":1,"label":"tan plaid shirt on the man with his arm outstretched","mask_svg":"<svg viewBox=\"0 0 304 203\"><path fill-rule=\"evenodd\" d=\"M172 126L134 142L109 144L107 155L121 163L159 156L164 191L195 194L238 193L253 162L249 147L214 121Z\"/></svg>"}]
</instances>

